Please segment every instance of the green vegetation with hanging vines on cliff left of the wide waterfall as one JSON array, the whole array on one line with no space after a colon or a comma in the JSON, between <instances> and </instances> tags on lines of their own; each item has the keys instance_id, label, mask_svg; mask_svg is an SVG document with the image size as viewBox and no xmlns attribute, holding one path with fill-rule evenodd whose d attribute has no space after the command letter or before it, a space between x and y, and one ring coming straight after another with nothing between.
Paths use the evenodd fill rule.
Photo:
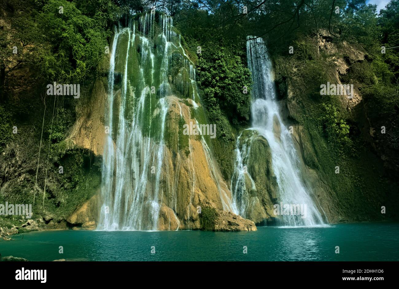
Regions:
<instances>
[{"instance_id":1,"label":"green vegetation with hanging vines on cliff left of the wide waterfall","mask_svg":"<svg viewBox=\"0 0 399 289\"><path fill-rule=\"evenodd\" d=\"M45 96L45 86L80 83L87 93L122 10L111 0L4 0L0 13L1 199L66 218L99 187L101 159L65 142L84 97Z\"/></svg>"}]
</instances>

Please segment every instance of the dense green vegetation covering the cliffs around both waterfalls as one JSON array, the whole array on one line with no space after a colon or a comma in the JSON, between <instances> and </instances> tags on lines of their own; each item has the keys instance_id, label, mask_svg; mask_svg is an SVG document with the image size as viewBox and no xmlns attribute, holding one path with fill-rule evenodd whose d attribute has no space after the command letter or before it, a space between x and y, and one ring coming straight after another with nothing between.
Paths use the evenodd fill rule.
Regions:
<instances>
[{"instance_id":1,"label":"dense green vegetation covering the cliffs around both waterfalls","mask_svg":"<svg viewBox=\"0 0 399 289\"><path fill-rule=\"evenodd\" d=\"M309 159L307 164L323 171L345 164L343 171L349 175L334 181L334 189L348 199L364 189L358 180L367 179L373 168L362 173L356 163L375 160L374 169L385 165L391 180L399 170L399 0L391 0L378 15L376 6L365 0L2 0L0 4L0 200L30 200L37 166L37 185L43 190L46 183L48 190L44 205L35 203L38 213L48 210L66 216L99 187L101 159L65 142L87 100L54 99L45 96L45 86L80 83L82 94L88 95L101 74L113 25L154 4L174 17L184 47L196 63L206 118L217 127L211 149L227 181L235 139L251 119L248 35L266 39L280 98L286 100L287 85L293 82L301 88L296 101L303 109L293 112L290 121L306 128L315 147L319 163ZM327 54L318 48L317 37L336 51ZM348 47L364 51L365 59L350 61ZM337 81L331 74L337 58L345 59L348 66L339 80L355 83L367 121L349 112L336 97L320 96L320 84ZM17 134L12 134L13 126ZM371 136L364 133L368 126ZM385 134L379 133L383 127ZM187 137L179 138L187 152ZM58 172L61 163L63 175ZM391 183L383 181L381 187L389 189ZM7 182L12 189L3 189Z\"/></svg>"}]
</instances>

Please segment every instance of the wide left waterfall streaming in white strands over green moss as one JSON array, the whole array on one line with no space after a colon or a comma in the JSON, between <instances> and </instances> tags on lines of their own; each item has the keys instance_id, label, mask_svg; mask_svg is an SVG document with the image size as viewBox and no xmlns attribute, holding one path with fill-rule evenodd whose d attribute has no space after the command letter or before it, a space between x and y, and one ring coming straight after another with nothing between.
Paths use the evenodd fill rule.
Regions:
<instances>
[{"instance_id":1,"label":"wide left waterfall streaming in white strands over green moss","mask_svg":"<svg viewBox=\"0 0 399 289\"><path fill-rule=\"evenodd\" d=\"M168 76L177 69L173 83ZM195 70L172 18L140 14L111 47L97 229L156 230L171 85L196 106ZM108 131L107 131L108 129Z\"/></svg>"}]
</instances>

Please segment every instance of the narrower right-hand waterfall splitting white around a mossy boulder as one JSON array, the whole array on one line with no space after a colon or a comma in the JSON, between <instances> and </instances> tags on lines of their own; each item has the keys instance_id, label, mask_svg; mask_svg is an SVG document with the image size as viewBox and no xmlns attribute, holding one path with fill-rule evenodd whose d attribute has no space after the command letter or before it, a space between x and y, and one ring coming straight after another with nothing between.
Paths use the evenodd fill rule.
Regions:
<instances>
[{"instance_id":1,"label":"narrower right-hand waterfall splitting white around a mossy boulder","mask_svg":"<svg viewBox=\"0 0 399 289\"><path fill-rule=\"evenodd\" d=\"M249 38L254 38L249 36ZM281 225L322 224L320 211L312 200L310 191L300 179L299 159L288 129L282 123L279 104L276 99L273 67L265 42L261 38L247 40L248 67L254 82L251 91L252 130L263 136L271 150L273 172L278 185L279 203L306 205L306 214L284 214L277 218ZM245 169L254 134L237 138L236 167L231 181L235 213L246 217L249 204L248 192L255 189L255 183ZM280 208L283 211L283 208Z\"/></svg>"}]
</instances>

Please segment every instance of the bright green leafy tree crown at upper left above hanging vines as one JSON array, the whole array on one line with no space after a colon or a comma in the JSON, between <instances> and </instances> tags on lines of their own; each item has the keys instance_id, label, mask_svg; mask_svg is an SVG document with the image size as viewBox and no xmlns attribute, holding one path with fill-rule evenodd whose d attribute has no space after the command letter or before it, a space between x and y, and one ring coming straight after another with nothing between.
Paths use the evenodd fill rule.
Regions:
<instances>
[{"instance_id":1,"label":"bright green leafy tree crown at upper left above hanging vines","mask_svg":"<svg viewBox=\"0 0 399 289\"><path fill-rule=\"evenodd\" d=\"M110 36L104 28L115 20L117 8L110 1L89 3L48 0L43 6L38 22L47 30L45 39L56 49L41 54L41 72L47 79L81 81L101 61ZM59 13L60 6L63 13Z\"/></svg>"}]
</instances>

